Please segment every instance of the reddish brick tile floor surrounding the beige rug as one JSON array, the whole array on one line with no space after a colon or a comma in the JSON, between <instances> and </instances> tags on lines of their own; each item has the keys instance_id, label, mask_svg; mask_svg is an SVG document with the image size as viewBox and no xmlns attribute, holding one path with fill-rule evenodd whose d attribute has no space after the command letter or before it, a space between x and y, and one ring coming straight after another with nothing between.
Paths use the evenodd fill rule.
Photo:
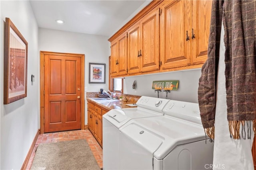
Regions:
<instances>
[{"instance_id":1,"label":"reddish brick tile floor surrounding the beige rug","mask_svg":"<svg viewBox=\"0 0 256 170\"><path fill-rule=\"evenodd\" d=\"M55 143L60 141L72 141L77 139L86 139L88 145L90 146L92 153L100 168L102 168L102 148L93 137L92 133L87 130L76 130L76 131L65 131L65 132L55 132L55 133L44 133L38 136L36 141L36 145L34 147L32 156L30 157L28 167L26 169L30 169L32 165L33 158L35 156L35 150L40 143Z\"/></svg>"}]
</instances>

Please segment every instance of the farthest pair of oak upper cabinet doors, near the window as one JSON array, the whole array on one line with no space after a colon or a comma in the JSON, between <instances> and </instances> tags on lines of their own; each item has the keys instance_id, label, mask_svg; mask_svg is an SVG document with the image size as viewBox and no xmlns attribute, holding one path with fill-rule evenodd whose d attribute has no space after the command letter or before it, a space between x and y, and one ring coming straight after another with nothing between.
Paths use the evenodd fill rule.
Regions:
<instances>
[{"instance_id":1,"label":"farthest pair of oak upper cabinet doors, near the window","mask_svg":"<svg viewBox=\"0 0 256 170\"><path fill-rule=\"evenodd\" d=\"M111 42L111 77L127 74L127 33Z\"/></svg>"}]
</instances>

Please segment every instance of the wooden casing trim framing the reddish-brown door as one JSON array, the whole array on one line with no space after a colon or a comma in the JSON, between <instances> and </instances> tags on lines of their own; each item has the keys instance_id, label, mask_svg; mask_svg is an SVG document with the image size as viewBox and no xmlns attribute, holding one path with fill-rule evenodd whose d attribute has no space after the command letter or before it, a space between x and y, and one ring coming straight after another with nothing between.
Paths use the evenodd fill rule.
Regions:
<instances>
[{"instance_id":1,"label":"wooden casing trim framing the reddish-brown door","mask_svg":"<svg viewBox=\"0 0 256 170\"><path fill-rule=\"evenodd\" d=\"M84 54L40 51L40 134L44 133L44 55L81 57L81 130L84 130Z\"/></svg>"}]
</instances>

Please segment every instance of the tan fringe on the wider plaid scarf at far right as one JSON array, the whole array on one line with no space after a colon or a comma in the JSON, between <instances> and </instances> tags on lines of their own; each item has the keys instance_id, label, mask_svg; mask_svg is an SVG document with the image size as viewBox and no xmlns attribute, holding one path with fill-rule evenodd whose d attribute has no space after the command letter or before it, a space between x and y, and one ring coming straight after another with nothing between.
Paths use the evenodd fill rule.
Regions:
<instances>
[{"instance_id":1,"label":"tan fringe on the wider plaid scarf at far right","mask_svg":"<svg viewBox=\"0 0 256 170\"><path fill-rule=\"evenodd\" d=\"M245 126L245 124L247 126ZM251 139L252 131L251 131L251 126L253 126L253 131L256 133L256 121L228 121L229 125L229 132L230 132L230 138L233 139L240 139L240 125L242 125L242 138L246 139L246 134L247 134L247 139ZM246 128L247 127L247 128Z\"/></svg>"}]
</instances>

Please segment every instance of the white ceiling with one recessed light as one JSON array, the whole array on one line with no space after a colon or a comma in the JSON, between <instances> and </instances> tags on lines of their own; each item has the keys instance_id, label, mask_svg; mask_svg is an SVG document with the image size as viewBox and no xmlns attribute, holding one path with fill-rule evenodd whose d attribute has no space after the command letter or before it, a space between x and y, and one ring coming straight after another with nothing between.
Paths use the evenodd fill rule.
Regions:
<instances>
[{"instance_id":1,"label":"white ceiling with one recessed light","mask_svg":"<svg viewBox=\"0 0 256 170\"><path fill-rule=\"evenodd\" d=\"M112 36L146 0L30 0L38 27ZM58 24L55 20L64 20Z\"/></svg>"}]
</instances>

